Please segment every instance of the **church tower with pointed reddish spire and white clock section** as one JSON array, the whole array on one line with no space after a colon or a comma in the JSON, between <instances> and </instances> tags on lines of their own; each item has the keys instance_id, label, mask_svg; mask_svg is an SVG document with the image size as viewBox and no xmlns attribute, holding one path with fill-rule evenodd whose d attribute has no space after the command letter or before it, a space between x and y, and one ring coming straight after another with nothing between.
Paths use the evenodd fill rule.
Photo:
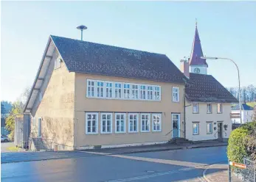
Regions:
<instances>
[{"instance_id":1,"label":"church tower with pointed reddish spire and white clock section","mask_svg":"<svg viewBox=\"0 0 256 182\"><path fill-rule=\"evenodd\" d=\"M192 45L192 51L189 58L190 73L207 75L208 65L207 65L206 59L201 59L201 57L204 57L204 54L201 48L201 42L200 42L198 29L197 29L197 22L196 22L196 33L195 33L195 37Z\"/></svg>"}]
</instances>

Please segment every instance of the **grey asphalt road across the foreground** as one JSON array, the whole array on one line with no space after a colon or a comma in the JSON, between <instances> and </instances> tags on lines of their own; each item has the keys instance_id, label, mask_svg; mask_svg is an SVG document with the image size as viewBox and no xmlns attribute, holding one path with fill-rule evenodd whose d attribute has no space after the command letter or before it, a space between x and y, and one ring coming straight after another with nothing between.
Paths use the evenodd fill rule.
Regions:
<instances>
[{"instance_id":1,"label":"grey asphalt road across the foreground","mask_svg":"<svg viewBox=\"0 0 256 182\"><path fill-rule=\"evenodd\" d=\"M226 160L226 147L107 156L88 153L73 159L1 164L1 181L204 181L207 165Z\"/></svg>"}]
</instances>

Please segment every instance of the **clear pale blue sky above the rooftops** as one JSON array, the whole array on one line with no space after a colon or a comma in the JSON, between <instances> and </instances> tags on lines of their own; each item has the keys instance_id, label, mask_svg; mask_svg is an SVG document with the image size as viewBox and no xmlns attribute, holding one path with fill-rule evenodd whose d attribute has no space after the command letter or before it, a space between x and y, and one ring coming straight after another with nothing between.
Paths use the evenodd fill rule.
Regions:
<instances>
[{"instance_id":1,"label":"clear pale blue sky above the rooftops","mask_svg":"<svg viewBox=\"0 0 256 182\"><path fill-rule=\"evenodd\" d=\"M233 59L241 86L256 85L256 1L1 1L1 100L32 87L50 34L189 57L195 22L204 55ZM208 74L238 87L235 65L207 60Z\"/></svg>"}]
</instances>

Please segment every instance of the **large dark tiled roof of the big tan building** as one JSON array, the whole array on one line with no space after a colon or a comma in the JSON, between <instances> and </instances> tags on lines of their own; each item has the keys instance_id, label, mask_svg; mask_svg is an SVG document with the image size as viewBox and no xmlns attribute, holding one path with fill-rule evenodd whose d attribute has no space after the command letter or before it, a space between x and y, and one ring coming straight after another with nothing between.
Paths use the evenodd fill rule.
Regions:
<instances>
[{"instance_id":1,"label":"large dark tiled roof of the big tan building","mask_svg":"<svg viewBox=\"0 0 256 182\"><path fill-rule=\"evenodd\" d=\"M164 54L51 37L71 72L184 83L183 73Z\"/></svg>"}]
</instances>

